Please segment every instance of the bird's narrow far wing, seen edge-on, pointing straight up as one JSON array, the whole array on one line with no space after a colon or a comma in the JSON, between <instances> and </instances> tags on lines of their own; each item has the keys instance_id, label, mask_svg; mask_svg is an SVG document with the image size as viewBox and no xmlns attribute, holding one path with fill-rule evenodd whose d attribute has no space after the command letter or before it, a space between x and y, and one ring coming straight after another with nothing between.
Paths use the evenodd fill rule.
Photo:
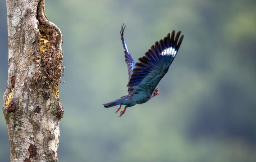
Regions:
<instances>
[{"instance_id":1,"label":"bird's narrow far wing, seen edge-on, pointing straight up","mask_svg":"<svg viewBox=\"0 0 256 162\"><path fill-rule=\"evenodd\" d=\"M127 45L123 39L123 31L124 31L125 27L126 26L124 26L124 23L123 23L123 26L121 26L120 34L121 34L121 40L123 43L123 48L125 49L124 57L125 57L125 63L127 64L127 67L128 67L128 74L129 74L129 81L130 81L131 76L133 74L133 68L135 67L135 62L134 62L133 57L130 54L130 52L127 48Z\"/></svg>"}]
</instances>

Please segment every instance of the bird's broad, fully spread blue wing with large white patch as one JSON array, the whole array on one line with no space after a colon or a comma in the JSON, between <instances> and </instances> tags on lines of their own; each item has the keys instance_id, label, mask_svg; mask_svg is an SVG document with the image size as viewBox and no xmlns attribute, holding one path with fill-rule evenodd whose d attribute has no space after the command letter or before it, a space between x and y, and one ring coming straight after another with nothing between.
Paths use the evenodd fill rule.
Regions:
<instances>
[{"instance_id":1,"label":"bird's broad, fully spread blue wing with large white patch","mask_svg":"<svg viewBox=\"0 0 256 162\"><path fill-rule=\"evenodd\" d=\"M178 52L183 40L183 35L180 37L180 33L181 31L178 31L175 36L175 31L172 31L171 36L169 33L164 40L155 42L145 56L139 58L127 85L129 94L139 92L146 93L145 95L152 94Z\"/></svg>"}]
</instances>

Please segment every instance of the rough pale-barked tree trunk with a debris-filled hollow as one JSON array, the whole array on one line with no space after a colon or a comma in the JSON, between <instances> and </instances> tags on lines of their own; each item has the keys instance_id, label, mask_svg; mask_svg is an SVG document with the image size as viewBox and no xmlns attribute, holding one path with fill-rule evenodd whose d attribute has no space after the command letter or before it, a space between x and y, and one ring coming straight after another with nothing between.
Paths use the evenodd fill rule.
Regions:
<instances>
[{"instance_id":1,"label":"rough pale-barked tree trunk with a debris-filled hollow","mask_svg":"<svg viewBox=\"0 0 256 162\"><path fill-rule=\"evenodd\" d=\"M9 69L3 113L11 162L57 162L64 109L62 34L45 15L44 0L6 0Z\"/></svg>"}]
</instances>

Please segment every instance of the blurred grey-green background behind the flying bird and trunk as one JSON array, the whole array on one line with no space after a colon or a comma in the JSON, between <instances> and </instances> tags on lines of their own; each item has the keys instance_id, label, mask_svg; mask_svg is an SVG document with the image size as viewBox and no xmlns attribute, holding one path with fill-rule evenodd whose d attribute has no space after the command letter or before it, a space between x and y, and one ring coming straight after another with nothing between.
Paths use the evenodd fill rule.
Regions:
<instances>
[{"instance_id":1,"label":"blurred grey-green background behind the flying bird and trunk","mask_svg":"<svg viewBox=\"0 0 256 162\"><path fill-rule=\"evenodd\" d=\"M46 0L63 33L59 162L256 162L255 0ZM8 71L6 4L0 1L0 92ZM142 57L173 29L183 43L160 95L128 108L120 40ZM3 105L3 100L0 100ZM9 161L0 113L0 162Z\"/></svg>"}]
</instances>

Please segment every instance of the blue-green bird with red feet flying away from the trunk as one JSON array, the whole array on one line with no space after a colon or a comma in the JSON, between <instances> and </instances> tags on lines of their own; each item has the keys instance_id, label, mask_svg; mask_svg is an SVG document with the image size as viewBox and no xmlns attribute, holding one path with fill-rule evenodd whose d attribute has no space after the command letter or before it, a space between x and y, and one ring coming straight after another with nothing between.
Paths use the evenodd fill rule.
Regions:
<instances>
[{"instance_id":1,"label":"blue-green bird with red feet flying away from the trunk","mask_svg":"<svg viewBox=\"0 0 256 162\"><path fill-rule=\"evenodd\" d=\"M125 63L128 67L128 94L110 103L103 104L105 108L120 105L115 113L118 113L121 106L125 105L119 117L125 113L126 108L146 103L159 94L156 85L168 72L184 37L184 35L180 36L181 31L178 31L175 35L175 30L173 30L164 39L156 41L155 45L152 45L143 57L138 58L139 62L135 63L123 38L125 27L126 25L124 26L123 23L120 35L125 49Z\"/></svg>"}]
</instances>

